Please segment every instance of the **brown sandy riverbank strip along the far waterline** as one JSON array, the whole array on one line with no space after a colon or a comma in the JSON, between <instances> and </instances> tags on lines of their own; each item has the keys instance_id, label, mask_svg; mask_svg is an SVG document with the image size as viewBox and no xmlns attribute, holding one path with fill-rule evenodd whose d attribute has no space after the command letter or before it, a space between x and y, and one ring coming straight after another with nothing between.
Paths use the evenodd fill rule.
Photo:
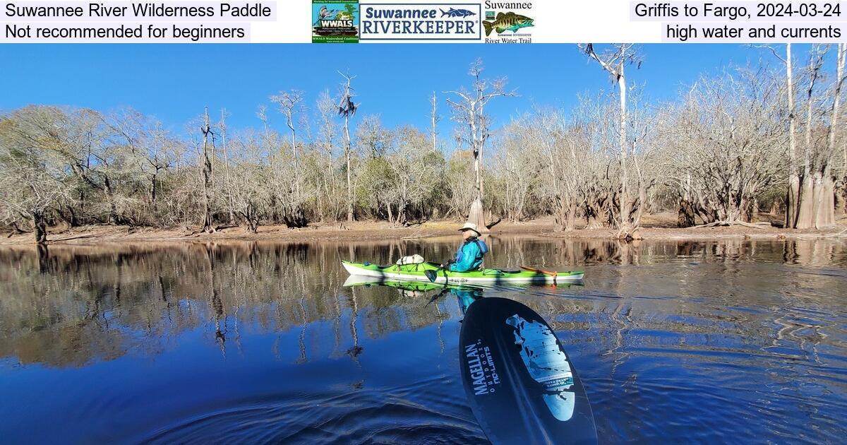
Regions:
<instances>
[{"instance_id":1,"label":"brown sandy riverbank strip along the far waterline","mask_svg":"<svg viewBox=\"0 0 847 445\"><path fill-rule=\"evenodd\" d=\"M262 241L368 241L389 239L418 239L436 236L457 236L455 220L427 221L418 225L397 227L385 221L356 221L353 223L314 224L302 229L288 229L285 225L263 225L257 233L251 233L244 226L222 228L214 233L199 232L197 228L173 227L150 228L120 225L86 225L64 228L52 227L48 230L49 244L93 244L100 242L163 242L163 241L224 241L224 240L262 240ZM645 216L639 230L645 240L697 240L720 238L807 238L807 237L847 237L847 220L842 218L832 228L816 230L781 229L772 226L750 227L734 225L730 227L697 227L680 229L676 225L675 214L653 214ZM545 218L527 222L512 223L502 221L491 228L492 235L533 235L562 238L612 239L613 229L578 229L556 232L553 220ZM0 238L0 245L32 244L32 233L8 235Z\"/></svg>"}]
</instances>

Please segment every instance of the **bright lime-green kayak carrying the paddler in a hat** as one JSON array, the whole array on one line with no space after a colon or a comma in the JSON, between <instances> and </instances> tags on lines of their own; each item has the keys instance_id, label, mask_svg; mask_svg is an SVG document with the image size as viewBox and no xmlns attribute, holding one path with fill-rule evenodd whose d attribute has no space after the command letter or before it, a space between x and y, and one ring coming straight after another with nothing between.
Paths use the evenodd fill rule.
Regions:
<instances>
[{"instance_id":1,"label":"bright lime-green kayak carrying the paddler in a hat","mask_svg":"<svg viewBox=\"0 0 847 445\"><path fill-rule=\"evenodd\" d=\"M416 264L391 264L380 266L370 263L353 263L341 261L350 275L375 276L407 281L429 281L426 272L435 272L437 283L506 283L506 282L539 282L556 283L580 281L584 272L557 272L522 267L521 270L483 269L470 272L451 272L443 270L439 264L424 262ZM430 272L431 274L432 272Z\"/></svg>"}]
</instances>

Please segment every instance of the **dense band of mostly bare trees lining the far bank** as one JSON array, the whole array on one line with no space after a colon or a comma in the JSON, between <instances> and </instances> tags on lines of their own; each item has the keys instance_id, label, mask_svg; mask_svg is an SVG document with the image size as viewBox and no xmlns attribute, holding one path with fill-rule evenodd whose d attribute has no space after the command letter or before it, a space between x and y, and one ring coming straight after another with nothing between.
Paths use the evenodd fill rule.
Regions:
<instances>
[{"instance_id":1,"label":"dense band of mostly bare trees lining the far bank","mask_svg":"<svg viewBox=\"0 0 847 445\"><path fill-rule=\"evenodd\" d=\"M628 81L638 47L580 45L614 88L508 122L486 105L519 90L477 61L457 90L422 92L428 128L386 128L342 73L316 103L296 90L268 97L256 127L237 131L225 109L197 110L177 134L130 108L30 105L0 114L0 225L46 242L49 225L211 232L553 215L556 230L637 238L643 214L673 210L684 227L756 224L765 212L822 228L844 211L847 50L791 49L751 47L760 64L703 75L659 103Z\"/></svg>"}]
</instances>

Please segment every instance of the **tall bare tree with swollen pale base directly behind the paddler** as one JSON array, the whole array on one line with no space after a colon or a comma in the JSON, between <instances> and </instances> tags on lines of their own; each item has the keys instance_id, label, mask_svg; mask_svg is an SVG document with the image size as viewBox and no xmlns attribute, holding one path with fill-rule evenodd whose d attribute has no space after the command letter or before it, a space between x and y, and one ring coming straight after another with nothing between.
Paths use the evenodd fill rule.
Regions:
<instances>
[{"instance_id":1,"label":"tall bare tree with swollen pale base directly behind the paddler","mask_svg":"<svg viewBox=\"0 0 847 445\"><path fill-rule=\"evenodd\" d=\"M468 75L473 78L470 88L464 88L458 91L446 91L445 94L451 94L456 98L448 98L447 103L453 108L453 120L459 125L466 126L463 132L463 142L468 144L473 153L473 173L476 186L476 197L471 203L468 211L468 222L479 227L479 231L488 232L488 227L485 225L485 215L483 213L483 197L484 184L482 174L482 153L485 146L485 141L490 136L490 116L485 114L485 105L495 97L512 97L515 92L506 91L505 77L501 77L490 81L482 78L483 72L482 59L477 59L471 64Z\"/></svg>"}]
</instances>

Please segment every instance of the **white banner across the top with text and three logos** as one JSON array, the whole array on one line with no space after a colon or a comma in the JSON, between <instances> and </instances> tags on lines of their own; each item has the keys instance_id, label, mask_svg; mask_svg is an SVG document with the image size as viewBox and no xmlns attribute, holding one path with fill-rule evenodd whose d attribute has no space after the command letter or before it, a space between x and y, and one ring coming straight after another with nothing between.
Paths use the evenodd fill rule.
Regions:
<instances>
[{"instance_id":1,"label":"white banner across the top with text and three logos","mask_svg":"<svg viewBox=\"0 0 847 445\"><path fill-rule=\"evenodd\" d=\"M16 0L0 42L845 42L844 3Z\"/></svg>"}]
</instances>

